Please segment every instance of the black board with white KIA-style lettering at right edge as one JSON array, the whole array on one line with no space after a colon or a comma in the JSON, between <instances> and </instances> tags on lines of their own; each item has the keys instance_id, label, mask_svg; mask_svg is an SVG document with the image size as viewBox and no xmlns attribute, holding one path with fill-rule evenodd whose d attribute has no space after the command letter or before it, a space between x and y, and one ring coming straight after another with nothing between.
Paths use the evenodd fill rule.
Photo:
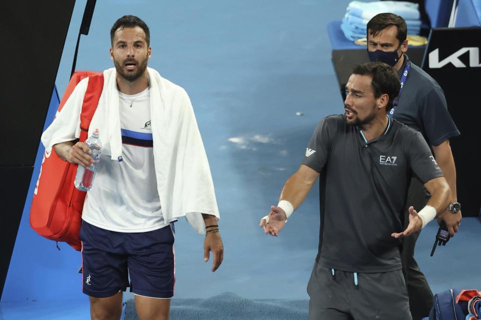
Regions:
<instances>
[{"instance_id":1,"label":"black board with white KIA-style lettering at right edge","mask_svg":"<svg viewBox=\"0 0 481 320\"><path fill-rule=\"evenodd\" d=\"M457 173L457 198L464 216L481 209L481 27L431 30L422 68L442 87L460 136L450 139Z\"/></svg>"}]
</instances>

